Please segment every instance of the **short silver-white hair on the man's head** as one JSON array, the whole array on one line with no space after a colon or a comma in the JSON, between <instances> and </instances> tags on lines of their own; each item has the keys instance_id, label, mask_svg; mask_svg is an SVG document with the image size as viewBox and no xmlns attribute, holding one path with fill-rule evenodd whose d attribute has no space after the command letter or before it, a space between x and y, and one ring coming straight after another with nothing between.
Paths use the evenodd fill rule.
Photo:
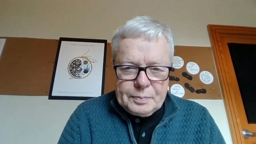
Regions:
<instances>
[{"instance_id":1,"label":"short silver-white hair on the man's head","mask_svg":"<svg viewBox=\"0 0 256 144\"><path fill-rule=\"evenodd\" d=\"M170 50L170 60L174 55L174 44L172 38L172 32L170 28L152 17L149 16L137 16L128 20L125 24L119 27L113 35L111 40L112 45L112 60L115 60L119 43L125 38L139 38L144 37L147 40L152 38L159 38L164 36Z\"/></svg>"}]
</instances>

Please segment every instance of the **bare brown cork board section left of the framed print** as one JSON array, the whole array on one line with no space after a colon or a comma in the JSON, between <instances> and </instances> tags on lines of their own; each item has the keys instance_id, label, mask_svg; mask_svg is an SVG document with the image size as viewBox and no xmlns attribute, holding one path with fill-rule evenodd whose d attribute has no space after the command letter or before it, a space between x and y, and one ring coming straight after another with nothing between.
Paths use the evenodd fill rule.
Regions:
<instances>
[{"instance_id":1,"label":"bare brown cork board section left of the framed print","mask_svg":"<svg viewBox=\"0 0 256 144\"><path fill-rule=\"evenodd\" d=\"M58 40L1 38L0 94L48 95Z\"/></svg>"}]
</instances>

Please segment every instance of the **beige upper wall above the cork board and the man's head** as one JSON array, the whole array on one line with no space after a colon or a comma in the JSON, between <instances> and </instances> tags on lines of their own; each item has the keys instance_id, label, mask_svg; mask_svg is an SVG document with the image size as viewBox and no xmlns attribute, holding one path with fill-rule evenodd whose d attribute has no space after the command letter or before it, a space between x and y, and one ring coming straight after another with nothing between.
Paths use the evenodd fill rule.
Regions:
<instances>
[{"instance_id":1,"label":"beige upper wall above the cork board and the man's head","mask_svg":"<svg viewBox=\"0 0 256 144\"><path fill-rule=\"evenodd\" d=\"M210 46L207 24L256 26L255 0L1 0L0 36L101 38L128 19L168 23L175 45Z\"/></svg>"}]
</instances>

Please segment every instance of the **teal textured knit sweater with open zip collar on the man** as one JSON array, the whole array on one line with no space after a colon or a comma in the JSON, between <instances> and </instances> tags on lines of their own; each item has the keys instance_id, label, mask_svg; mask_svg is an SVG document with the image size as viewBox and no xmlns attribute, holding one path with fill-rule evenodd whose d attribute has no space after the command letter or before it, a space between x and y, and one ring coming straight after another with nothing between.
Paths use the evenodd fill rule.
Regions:
<instances>
[{"instance_id":1,"label":"teal textured knit sweater with open zip collar on the man","mask_svg":"<svg viewBox=\"0 0 256 144\"><path fill-rule=\"evenodd\" d=\"M167 93L162 120L152 144L224 144L203 106ZM117 103L115 91L81 103L70 116L58 144L137 144L132 124Z\"/></svg>"}]
</instances>

